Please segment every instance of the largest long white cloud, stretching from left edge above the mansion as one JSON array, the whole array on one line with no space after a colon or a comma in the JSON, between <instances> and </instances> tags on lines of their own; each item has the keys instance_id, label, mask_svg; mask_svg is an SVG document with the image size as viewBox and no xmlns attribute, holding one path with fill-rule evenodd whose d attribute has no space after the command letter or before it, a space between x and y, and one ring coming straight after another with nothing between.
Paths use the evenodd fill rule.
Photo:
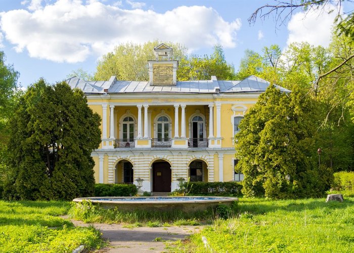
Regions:
<instances>
[{"instance_id":1,"label":"largest long white cloud, stretching from left edge above the mansion","mask_svg":"<svg viewBox=\"0 0 354 253\"><path fill-rule=\"evenodd\" d=\"M55 62L81 62L120 43L160 39L190 50L236 47L240 19L225 21L214 9L181 6L165 13L124 10L98 1L59 0L35 11L12 10L0 16L0 31L17 52Z\"/></svg>"}]
</instances>

